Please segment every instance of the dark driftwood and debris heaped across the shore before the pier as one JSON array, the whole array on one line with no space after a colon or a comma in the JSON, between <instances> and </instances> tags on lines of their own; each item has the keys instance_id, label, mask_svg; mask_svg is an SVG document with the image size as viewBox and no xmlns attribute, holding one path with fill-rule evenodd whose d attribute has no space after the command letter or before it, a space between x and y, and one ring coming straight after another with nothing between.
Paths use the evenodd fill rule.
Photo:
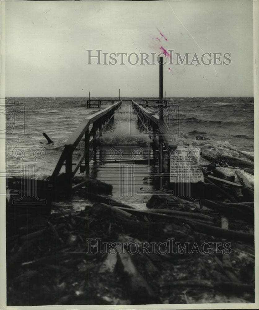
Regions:
<instances>
[{"instance_id":1,"label":"dark driftwood and debris heaped across the shore before the pier","mask_svg":"<svg viewBox=\"0 0 259 310\"><path fill-rule=\"evenodd\" d=\"M253 303L253 186L238 170L236 183L204 168L200 203L157 191L147 210L112 206L111 185L78 177L84 210L48 199L53 213L14 213L9 187L7 305Z\"/></svg>"}]
</instances>

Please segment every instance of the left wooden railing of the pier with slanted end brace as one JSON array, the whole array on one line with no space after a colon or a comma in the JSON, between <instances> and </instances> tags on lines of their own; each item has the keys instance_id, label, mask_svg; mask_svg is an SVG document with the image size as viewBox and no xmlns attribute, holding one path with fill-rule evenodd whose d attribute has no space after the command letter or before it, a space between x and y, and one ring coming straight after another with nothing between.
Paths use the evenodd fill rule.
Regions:
<instances>
[{"instance_id":1,"label":"left wooden railing of the pier with slanted end brace","mask_svg":"<svg viewBox=\"0 0 259 310\"><path fill-rule=\"evenodd\" d=\"M80 168L81 163L85 161L85 168L89 166L89 148L92 145L94 154L96 154L96 138L101 134L103 129L114 122L114 114L116 110L121 106L121 101L112 104L108 108L99 111L93 115L85 117L81 124L77 127L76 131L70 136L64 146L64 150L59 158L59 161L52 173L51 179L53 182L57 181L59 172L65 162L65 187L67 195L70 196L72 193L72 178ZM76 164L72 163L72 155L81 141L85 138L84 152L77 161ZM90 139L92 137L92 139ZM73 166L74 169L73 169Z\"/></svg>"}]
</instances>

